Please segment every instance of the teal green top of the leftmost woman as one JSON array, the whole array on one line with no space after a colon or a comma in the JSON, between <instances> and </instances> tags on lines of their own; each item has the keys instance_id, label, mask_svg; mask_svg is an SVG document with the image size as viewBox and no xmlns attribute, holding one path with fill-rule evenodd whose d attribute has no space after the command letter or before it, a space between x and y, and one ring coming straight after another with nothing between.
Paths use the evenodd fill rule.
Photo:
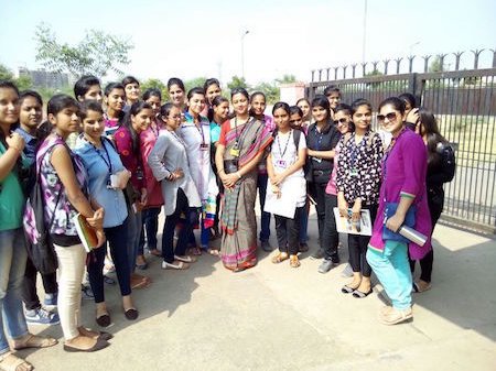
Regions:
<instances>
[{"instance_id":1,"label":"teal green top of the leftmost woman","mask_svg":"<svg viewBox=\"0 0 496 371\"><path fill-rule=\"evenodd\" d=\"M6 152L6 146L0 142L0 156ZM18 175L11 171L0 182L0 231L22 227L24 204L25 199Z\"/></svg>"}]
</instances>

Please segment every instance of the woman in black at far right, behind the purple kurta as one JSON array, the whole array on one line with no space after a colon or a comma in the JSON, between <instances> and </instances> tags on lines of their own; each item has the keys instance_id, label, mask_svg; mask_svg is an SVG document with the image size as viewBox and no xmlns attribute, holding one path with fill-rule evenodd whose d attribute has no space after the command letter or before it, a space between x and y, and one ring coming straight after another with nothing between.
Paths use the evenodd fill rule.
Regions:
<instances>
[{"instance_id":1,"label":"woman in black at far right, behind the purple kurta","mask_svg":"<svg viewBox=\"0 0 496 371\"><path fill-rule=\"evenodd\" d=\"M443 184L451 182L455 173L455 157L450 143L440 134L438 122L432 112L420 109L420 135L428 150L428 172L425 185L428 189L428 205L431 214L432 232L444 207ZM413 290L421 293L431 288L432 263L434 252L431 249L425 257L420 260L422 273L420 280L413 283ZM410 260L410 268L413 272L416 262Z\"/></svg>"}]
</instances>

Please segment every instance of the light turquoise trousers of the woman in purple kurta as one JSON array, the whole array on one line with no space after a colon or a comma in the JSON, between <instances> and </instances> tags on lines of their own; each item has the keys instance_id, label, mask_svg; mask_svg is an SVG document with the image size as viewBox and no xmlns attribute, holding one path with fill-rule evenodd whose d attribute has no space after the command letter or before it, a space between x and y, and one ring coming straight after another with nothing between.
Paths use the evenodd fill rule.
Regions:
<instances>
[{"instance_id":1,"label":"light turquoise trousers of the woman in purple kurta","mask_svg":"<svg viewBox=\"0 0 496 371\"><path fill-rule=\"evenodd\" d=\"M368 249L367 261L382 284L395 308L411 307L411 272L408 263L408 245L403 242L386 241L384 251Z\"/></svg>"}]
</instances>

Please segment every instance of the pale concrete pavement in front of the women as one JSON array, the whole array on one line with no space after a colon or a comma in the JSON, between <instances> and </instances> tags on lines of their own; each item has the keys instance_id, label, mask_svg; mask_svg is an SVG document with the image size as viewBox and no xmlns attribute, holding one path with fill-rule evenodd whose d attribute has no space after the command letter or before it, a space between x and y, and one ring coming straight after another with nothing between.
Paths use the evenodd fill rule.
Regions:
<instances>
[{"instance_id":1,"label":"pale concrete pavement in front of the women","mask_svg":"<svg viewBox=\"0 0 496 371\"><path fill-rule=\"evenodd\" d=\"M312 252L316 220L309 227ZM347 259L345 249L341 255ZM137 321L123 317L118 287L106 285L109 348L67 353L57 345L20 354L50 371L496 370L495 240L438 226L433 287L414 294L413 321L391 327L377 320L380 285L364 299L341 293L345 264L320 274L310 253L299 269L259 257L236 274L211 255L183 272L162 271L150 258L153 284L133 292ZM85 301L84 325L96 328L94 312ZM62 342L58 326L31 328Z\"/></svg>"}]
</instances>

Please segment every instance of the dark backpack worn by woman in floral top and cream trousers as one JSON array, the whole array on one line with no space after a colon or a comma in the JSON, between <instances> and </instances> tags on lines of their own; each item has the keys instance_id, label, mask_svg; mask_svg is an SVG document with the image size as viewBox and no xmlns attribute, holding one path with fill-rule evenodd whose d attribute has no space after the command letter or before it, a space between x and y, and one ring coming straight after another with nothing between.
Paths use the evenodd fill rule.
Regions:
<instances>
[{"instance_id":1,"label":"dark backpack worn by woman in floral top and cream trousers","mask_svg":"<svg viewBox=\"0 0 496 371\"><path fill-rule=\"evenodd\" d=\"M36 165L36 182L30 192L24 212L24 231L28 255L41 274L55 273L58 268L57 257L50 236L50 230L52 229L56 212L54 210L50 223L46 225L44 217L45 199L40 179L41 163L52 148L46 150L40 159L40 164ZM58 179L57 183L61 183L61 181ZM63 189L61 189L57 195L55 209L61 199L62 192Z\"/></svg>"}]
</instances>

